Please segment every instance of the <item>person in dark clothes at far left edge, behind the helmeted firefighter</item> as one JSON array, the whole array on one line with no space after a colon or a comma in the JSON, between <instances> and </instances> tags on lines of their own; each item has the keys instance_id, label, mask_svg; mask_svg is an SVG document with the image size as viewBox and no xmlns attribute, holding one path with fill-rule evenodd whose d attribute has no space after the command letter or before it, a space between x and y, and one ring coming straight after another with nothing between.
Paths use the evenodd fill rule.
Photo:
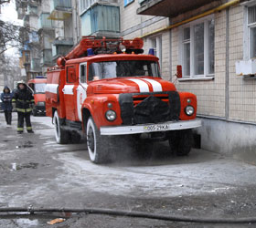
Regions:
<instances>
[{"instance_id":1,"label":"person in dark clothes at far left edge, behind the helmeted firefighter","mask_svg":"<svg viewBox=\"0 0 256 228\"><path fill-rule=\"evenodd\" d=\"M5 111L5 121L7 125L12 124L12 97L13 94L11 93L10 88L5 87L1 94L1 100L3 101L2 108Z\"/></svg>"}]
</instances>

